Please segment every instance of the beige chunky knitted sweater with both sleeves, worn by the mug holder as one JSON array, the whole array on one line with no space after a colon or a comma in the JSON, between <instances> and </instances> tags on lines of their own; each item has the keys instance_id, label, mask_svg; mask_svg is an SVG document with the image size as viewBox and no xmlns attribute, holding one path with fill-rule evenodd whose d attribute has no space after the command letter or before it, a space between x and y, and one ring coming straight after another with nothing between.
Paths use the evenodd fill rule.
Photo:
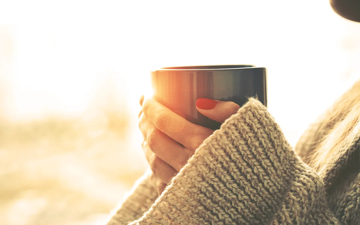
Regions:
<instances>
[{"instance_id":1,"label":"beige chunky knitted sweater with both sleeves, worn by the mug holder","mask_svg":"<svg viewBox=\"0 0 360 225\"><path fill-rule=\"evenodd\" d=\"M309 150L306 138L301 141L297 149ZM359 166L356 140L346 157L317 174L267 109L249 99L204 140L160 196L149 175L141 177L108 225L360 224Z\"/></svg>"}]
</instances>

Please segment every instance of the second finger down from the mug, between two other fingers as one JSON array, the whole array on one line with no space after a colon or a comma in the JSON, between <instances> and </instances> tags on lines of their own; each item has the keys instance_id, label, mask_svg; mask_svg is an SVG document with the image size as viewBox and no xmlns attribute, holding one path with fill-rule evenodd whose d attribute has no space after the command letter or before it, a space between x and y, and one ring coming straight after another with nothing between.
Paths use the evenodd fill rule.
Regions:
<instances>
[{"instance_id":1,"label":"second finger down from the mug, between two other fingers","mask_svg":"<svg viewBox=\"0 0 360 225\"><path fill-rule=\"evenodd\" d=\"M193 154L193 151L187 150L183 145L159 131L149 120L140 124L140 131L151 152L176 171L180 171Z\"/></svg>"}]
</instances>

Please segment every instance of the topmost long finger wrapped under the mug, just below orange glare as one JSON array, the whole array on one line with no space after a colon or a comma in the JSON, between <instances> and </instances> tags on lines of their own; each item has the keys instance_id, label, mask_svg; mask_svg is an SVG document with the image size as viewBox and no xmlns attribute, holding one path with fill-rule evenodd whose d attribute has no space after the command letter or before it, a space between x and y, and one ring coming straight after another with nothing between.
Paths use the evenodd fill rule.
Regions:
<instances>
[{"instance_id":1,"label":"topmost long finger wrapped under the mug, just below orange glare","mask_svg":"<svg viewBox=\"0 0 360 225\"><path fill-rule=\"evenodd\" d=\"M213 130L195 125L172 112L154 98L143 102L143 113L157 129L189 149L196 149Z\"/></svg>"}]
</instances>

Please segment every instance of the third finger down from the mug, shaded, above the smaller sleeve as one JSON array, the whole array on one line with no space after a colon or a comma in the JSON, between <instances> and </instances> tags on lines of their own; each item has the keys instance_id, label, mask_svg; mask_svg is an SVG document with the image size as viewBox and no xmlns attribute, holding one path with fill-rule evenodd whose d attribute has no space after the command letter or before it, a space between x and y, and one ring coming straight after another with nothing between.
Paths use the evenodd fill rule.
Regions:
<instances>
[{"instance_id":1,"label":"third finger down from the mug, shaded, above the smaller sleeve","mask_svg":"<svg viewBox=\"0 0 360 225\"><path fill-rule=\"evenodd\" d=\"M151 152L146 142L143 145L143 150L151 171L163 182L168 183L177 174L177 171L172 166Z\"/></svg>"}]
</instances>

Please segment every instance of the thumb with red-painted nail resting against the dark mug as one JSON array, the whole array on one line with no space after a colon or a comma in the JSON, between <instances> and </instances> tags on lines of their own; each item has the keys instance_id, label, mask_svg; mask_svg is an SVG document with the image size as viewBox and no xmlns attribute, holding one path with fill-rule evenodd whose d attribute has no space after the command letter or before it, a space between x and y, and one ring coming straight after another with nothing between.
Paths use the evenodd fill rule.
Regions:
<instances>
[{"instance_id":1,"label":"thumb with red-painted nail resting against the dark mug","mask_svg":"<svg viewBox=\"0 0 360 225\"><path fill-rule=\"evenodd\" d=\"M240 106L234 102L223 102L219 100L199 98L196 101L196 108L199 113L211 120L223 123L232 114L236 113Z\"/></svg>"}]
</instances>

